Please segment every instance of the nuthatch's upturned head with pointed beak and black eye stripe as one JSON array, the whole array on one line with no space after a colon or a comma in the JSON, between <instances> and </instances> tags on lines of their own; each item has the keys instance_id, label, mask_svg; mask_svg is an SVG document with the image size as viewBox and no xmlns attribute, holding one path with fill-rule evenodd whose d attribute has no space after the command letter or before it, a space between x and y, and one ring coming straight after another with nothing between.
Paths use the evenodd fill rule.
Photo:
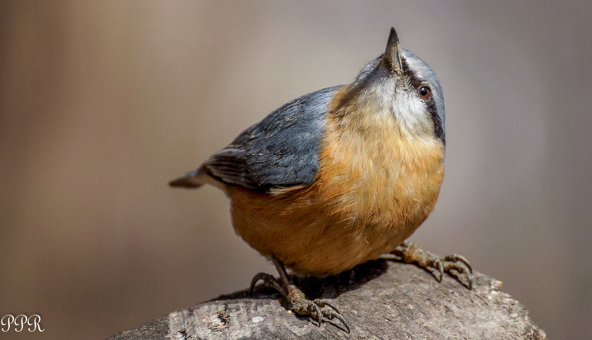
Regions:
<instances>
[{"instance_id":1,"label":"nuthatch's upturned head with pointed beak and black eye stripe","mask_svg":"<svg viewBox=\"0 0 592 340\"><path fill-rule=\"evenodd\" d=\"M363 112L355 118L362 129L394 120L404 133L445 143L444 97L438 77L422 59L400 47L394 28L385 53L341 91L332 111L337 119Z\"/></svg>"}]
</instances>

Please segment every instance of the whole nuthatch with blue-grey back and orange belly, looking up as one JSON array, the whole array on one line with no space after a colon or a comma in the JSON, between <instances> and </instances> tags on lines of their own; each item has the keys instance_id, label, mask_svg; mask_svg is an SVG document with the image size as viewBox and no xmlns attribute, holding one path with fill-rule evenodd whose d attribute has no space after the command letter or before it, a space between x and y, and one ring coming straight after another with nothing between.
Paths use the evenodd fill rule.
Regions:
<instances>
[{"instance_id":1,"label":"whole nuthatch with blue-grey back and orange belly, looking up","mask_svg":"<svg viewBox=\"0 0 592 340\"><path fill-rule=\"evenodd\" d=\"M296 313L319 326L339 319L349 332L339 309L306 299L286 268L323 277L394 254L471 289L465 257L407 240L436 203L445 146L442 86L391 28L385 52L352 83L286 103L169 185L222 190L234 231L279 273L256 274L251 289L262 280Z\"/></svg>"}]
</instances>

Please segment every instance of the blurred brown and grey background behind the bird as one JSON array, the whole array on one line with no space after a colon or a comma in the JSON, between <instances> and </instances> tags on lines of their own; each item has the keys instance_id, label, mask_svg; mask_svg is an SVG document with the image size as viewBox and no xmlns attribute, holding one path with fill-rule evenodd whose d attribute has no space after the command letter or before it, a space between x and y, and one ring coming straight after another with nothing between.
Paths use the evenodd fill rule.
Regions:
<instances>
[{"instance_id":1,"label":"blurred brown and grey background behind the bird","mask_svg":"<svg viewBox=\"0 0 592 340\"><path fill-rule=\"evenodd\" d=\"M592 320L588 1L0 5L0 316L106 338L275 273L218 190L166 182L392 26L439 75L446 177L413 235L504 281L551 339ZM26 333L26 334L25 334Z\"/></svg>"}]
</instances>

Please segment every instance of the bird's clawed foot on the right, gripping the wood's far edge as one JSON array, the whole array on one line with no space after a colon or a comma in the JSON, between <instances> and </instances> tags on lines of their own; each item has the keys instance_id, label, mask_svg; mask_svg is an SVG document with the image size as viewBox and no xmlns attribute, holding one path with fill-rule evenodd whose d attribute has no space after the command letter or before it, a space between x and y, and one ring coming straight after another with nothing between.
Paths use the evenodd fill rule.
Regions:
<instances>
[{"instance_id":1,"label":"bird's clawed foot on the right, gripping the wood's far edge","mask_svg":"<svg viewBox=\"0 0 592 340\"><path fill-rule=\"evenodd\" d=\"M403 242L391 254L400 257L404 263L417 263L420 267L430 271L439 282L442 282L442 276L446 272L455 276L468 289L472 289L471 264L462 255L451 254L440 257L427 250L423 250L419 245L411 241ZM466 282L462 281L461 278L464 278Z\"/></svg>"}]
</instances>

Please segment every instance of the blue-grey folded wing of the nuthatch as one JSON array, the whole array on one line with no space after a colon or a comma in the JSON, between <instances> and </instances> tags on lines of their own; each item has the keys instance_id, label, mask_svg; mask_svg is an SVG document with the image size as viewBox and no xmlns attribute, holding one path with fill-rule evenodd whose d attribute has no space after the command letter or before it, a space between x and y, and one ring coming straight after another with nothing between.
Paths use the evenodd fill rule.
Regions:
<instances>
[{"instance_id":1,"label":"blue-grey folded wing of the nuthatch","mask_svg":"<svg viewBox=\"0 0 592 340\"><path fill-rule=\"evenodd\" d=\"M258 192L310 184L318 170L327 106L337 88L308 93L276 109L200 169L221 182Z\"/></svg>"}]
</instances>

